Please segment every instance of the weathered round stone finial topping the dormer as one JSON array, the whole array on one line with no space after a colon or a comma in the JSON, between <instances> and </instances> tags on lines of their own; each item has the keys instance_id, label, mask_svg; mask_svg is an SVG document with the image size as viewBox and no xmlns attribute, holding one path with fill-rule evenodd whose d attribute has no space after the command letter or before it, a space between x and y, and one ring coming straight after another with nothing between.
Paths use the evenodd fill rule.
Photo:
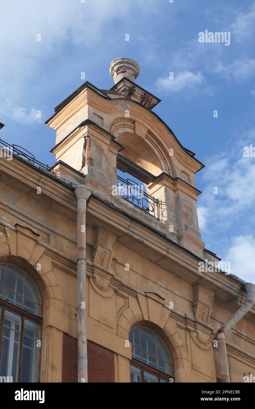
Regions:
<instances>
[{"instance_id":1,"label":"weathered round stone finial topping the dormer","mask_svg":"<svg viewBox=\"0 0 255 409\"><path fill-rule=\"evenodd\" d=\"M131 58L121 57L113 60L110 65L110 74L114 79L115 84L123 77L135 81L140 72L138 63Z\"/></svg>"}]
</instances>

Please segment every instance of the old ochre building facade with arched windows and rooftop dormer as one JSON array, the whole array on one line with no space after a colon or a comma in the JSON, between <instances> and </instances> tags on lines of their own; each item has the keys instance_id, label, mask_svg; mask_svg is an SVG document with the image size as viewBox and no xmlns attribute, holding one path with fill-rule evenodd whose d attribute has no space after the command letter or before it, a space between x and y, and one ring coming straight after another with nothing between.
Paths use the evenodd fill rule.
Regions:
<instances>
[{"instance_id":1,"label":"old ochre building facade with arched windows and rooftop dormer","mask_svg":"<svg viewBox=\"0 0 255 409\"><path fill-rule=\"evenodd\" d=\"M137 63L110 72L111 90L86 82L47 120L56 164L1 155L0 376L86 382L88 360L88 382L221 382L216 334L247 293L210 268L203 164L152 111ZM231 382L255 376L254 346L250 306L226 333Z\"/></svg>"}]
</instances>

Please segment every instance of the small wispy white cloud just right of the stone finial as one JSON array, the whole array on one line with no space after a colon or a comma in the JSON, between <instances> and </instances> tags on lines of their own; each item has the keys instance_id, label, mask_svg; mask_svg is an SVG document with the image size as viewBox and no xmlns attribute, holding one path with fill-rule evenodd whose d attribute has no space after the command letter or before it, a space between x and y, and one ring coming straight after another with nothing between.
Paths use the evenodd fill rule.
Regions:
<instances>
[{"instance_id":1,"label":"small wispy white cloud just right of the stone finial","mask_svg":"<svg viewBox=\"0 0 255 409\"><path fill-rule=\"evenodd\" d=\"M156 85L160 90L164 90L167 92L181 92L181 91L189 91L195 92L196 87L199 87L204 81L204 77L201 72L190 72L184 71L180 72L175 75L174 78L158 78L156 81Z\"/></svg>"}]
</instances>

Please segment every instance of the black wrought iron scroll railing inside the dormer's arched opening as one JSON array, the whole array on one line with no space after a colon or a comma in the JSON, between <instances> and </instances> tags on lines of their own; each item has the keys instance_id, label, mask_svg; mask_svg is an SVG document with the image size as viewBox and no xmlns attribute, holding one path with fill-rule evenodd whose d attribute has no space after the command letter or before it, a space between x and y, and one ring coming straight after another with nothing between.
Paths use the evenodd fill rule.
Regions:
<instances>
[{"instance_id":1,"label":"black wrought iron scroll railing inside the dormer's arched opening","mask_svg":"<svg viewBox=\"0 0 255 409\"><path fill-rule=\"evenodd\" d=\"M148 195L142 185L138 185L134 180L125 180L117 175L117 188L118 194L124 200L132 203L144 213L151 214L158 220L160 219L160 201L154 196Z\"/></svg>"}]
</instances>

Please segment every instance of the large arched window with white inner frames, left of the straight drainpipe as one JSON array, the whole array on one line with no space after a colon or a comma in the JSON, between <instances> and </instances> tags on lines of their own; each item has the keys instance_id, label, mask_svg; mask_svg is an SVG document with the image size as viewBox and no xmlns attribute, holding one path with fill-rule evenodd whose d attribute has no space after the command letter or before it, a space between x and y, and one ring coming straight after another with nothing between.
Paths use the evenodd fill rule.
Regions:
<instances>
[{"instance_id":1,"label":"large arched window with white inner frames, left of the straight drainpipe","mask_svg":"<svg viewBox=\"0 0 255 409\"><path fill-rule=\"evenodd\" d=\"M0 263L0 376L12 382L38 382L42 298L20 267Z\"/></svg>"}]
</instances>

